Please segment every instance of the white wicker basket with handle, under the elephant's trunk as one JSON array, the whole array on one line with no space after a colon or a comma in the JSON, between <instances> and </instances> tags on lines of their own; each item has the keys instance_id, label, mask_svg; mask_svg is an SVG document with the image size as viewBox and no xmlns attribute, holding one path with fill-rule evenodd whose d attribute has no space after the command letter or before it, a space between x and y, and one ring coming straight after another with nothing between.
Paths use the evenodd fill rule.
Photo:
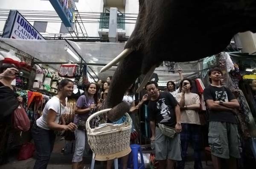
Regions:
<instances>
[{"instance_id":1,"label":"white wicker basket with handle, under the elephant's trunk","mask_svg":"<svg viewBox=\"0 0 256 169\"><path fill-rule=\"evenodd\" d=\"M86 121L86 130L88 144L95 154L95 160L106 161L120 158L131 152L130 135L131 135L131 117L128 113L126 121L118 125L109 125L105 127L90 128L90 120L96 115L108 112L111 109L101 110L93 113Z\"/></svg>"}]
</instances>

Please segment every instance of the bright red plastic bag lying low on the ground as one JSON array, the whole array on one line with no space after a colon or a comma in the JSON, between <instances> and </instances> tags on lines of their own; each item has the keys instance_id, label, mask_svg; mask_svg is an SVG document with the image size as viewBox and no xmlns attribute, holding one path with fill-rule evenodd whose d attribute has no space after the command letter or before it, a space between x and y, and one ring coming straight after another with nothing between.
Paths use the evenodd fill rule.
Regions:
<instances>
[{"instance_id":1,"label":"bright red plastic bag lying low on the ground","mask_svg":"<svg viewBox=\"0 0 256 169\"><path fill-rule=\"evenodd\" d=\"M32 143L25 143L20 148L20 152L18 155L18 160L26 160L33 156L33 153L35 151L35 145Z\"/></svg>"}]
</instances>

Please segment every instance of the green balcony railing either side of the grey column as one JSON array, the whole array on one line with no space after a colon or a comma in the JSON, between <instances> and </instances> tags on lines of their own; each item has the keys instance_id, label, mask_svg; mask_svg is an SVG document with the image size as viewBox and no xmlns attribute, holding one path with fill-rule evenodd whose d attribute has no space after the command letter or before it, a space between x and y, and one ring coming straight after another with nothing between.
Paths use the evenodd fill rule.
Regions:
<instances>
[{"instance_id":1,"label":"green balcony railing either side of the grey column","mask_svg":"<svg viewBox=\"0 0 256 169\"><path fill-rule=\"evenodd\" d=\"M109 13L100 14L99 28L109 28ZM125 14L117 14L117 28L125 30Z\"/></svg>"}]
</instances>

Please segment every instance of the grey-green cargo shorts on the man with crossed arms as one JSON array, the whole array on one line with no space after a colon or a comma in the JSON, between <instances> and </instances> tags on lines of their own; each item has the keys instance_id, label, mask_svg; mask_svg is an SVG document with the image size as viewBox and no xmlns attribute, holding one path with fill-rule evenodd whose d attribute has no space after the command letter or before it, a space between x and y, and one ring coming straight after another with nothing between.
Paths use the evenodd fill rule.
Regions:
<instances>
[{"instance_id":1,"label":"grey-green cargo shorts on the man with crossed arms","mask_svg":"<svg viewBox=\"0 0 256 169\"><path fill-rule=\"evenodd\" d=\"M210 121L208 141L212 155L225 159L230 157L240 158L239 147L241 147L241 142L237 124Z\"/></svg>"}]
</instances>

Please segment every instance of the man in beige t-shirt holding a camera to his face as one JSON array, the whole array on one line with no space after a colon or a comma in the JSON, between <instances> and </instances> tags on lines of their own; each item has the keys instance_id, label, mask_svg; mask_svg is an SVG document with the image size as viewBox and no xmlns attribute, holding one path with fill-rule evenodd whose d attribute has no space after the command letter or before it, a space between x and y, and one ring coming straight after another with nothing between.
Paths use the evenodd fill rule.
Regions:
<instances>
[{"instance_id":1,"label":"man in beige t-shirt holding a camera to his face","mask_svg":"<svg viewBox=\"0 0 256 169\"><path fill-rule=\"evenodd\" d=\"M191 93L192 83L189 79L180 82L181 93L178 93L176 100L180 105L180 132L181 158L177 169L184 169L189 142L194 149L194 169L202 169L201 162L201 123L198 115L201 103L198 94Z\"/></svg>"}]
</instances>

